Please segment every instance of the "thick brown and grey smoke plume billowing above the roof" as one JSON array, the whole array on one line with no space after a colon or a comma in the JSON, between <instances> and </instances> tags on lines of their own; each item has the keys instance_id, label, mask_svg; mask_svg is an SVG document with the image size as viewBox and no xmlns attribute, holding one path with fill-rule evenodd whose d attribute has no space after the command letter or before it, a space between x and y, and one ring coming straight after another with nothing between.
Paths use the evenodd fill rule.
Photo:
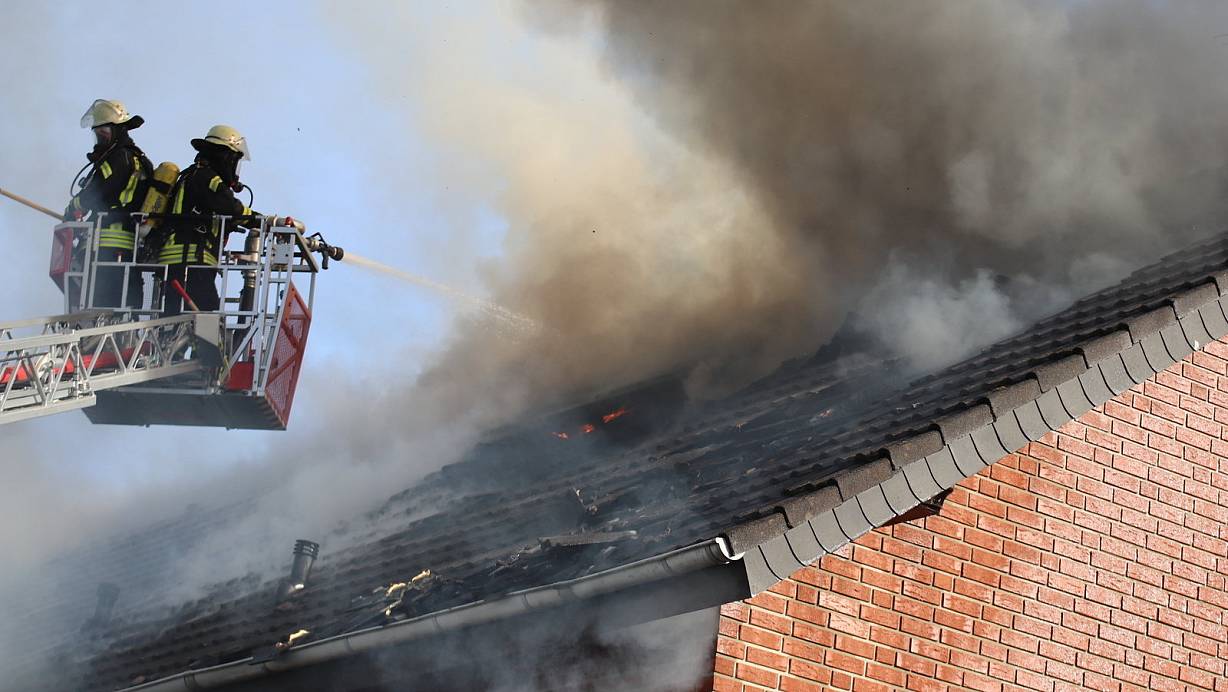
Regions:
<instances>
[{"instance_id":1,"label":"thick brown and grey smoke plume billowing above the roof","mask_svg":"<svg viewBox=\"0 0 1228 692\"><path fill-rule=\"evenodd\" d=\"M427 48L415 117L502 182L494 296L559 331L502 350L462 331L426 383L468 394L457 375L476 372L540 398L696 363L737 379L822 341L849 308L932 367L1222 210L1221 4L523 10L558 42L539 79L480 65L457 79ZM449 59L490 54L481 31L443 34ZM1043 290L995 296L989 274ZM952 317L980 328L899 326Z\"/></svg>"}]
</instances>

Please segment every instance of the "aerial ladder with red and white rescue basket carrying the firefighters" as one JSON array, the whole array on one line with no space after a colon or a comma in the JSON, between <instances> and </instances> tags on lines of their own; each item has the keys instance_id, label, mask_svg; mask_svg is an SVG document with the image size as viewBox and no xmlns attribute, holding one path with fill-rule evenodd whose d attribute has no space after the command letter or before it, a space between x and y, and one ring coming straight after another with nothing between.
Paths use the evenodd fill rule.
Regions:
<instances>
[{"instance_id":1,"label":"aerial ladder with red and white rescue basket carrying the firefighters","mask_svg":"<svg viewBox=\"0 0 1228 692\"><path fill-rule=\"evenodd\" d=\"M136 216L138 242L152 222L183 218ZM0 425L80 409L95 423L285 429L316 280L344 250L318 233L305 236L292 220L208 222L223 238L243 238L242 249L222 249L217 266L188 267L215 272L215 312L194 309L183 286L167 280L166 265L101 260L103 217L56 225L49 275L65 309L0 323ZM122 307L98 304L104 272L122 276ZM141 296L128 296L130 277ZM184 298L181 314L163 309L169 291Z\"/></svg>"}]
</instances>

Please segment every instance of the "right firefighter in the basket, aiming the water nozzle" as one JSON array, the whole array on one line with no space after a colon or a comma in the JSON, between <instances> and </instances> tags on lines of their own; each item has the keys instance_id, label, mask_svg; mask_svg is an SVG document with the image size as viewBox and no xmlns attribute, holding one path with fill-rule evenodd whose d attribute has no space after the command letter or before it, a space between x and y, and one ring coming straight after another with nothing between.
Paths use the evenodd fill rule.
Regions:
<instances>
[{"instance_id":1,"label":"right firefighter in the basket, aiming the water nozzle","mask_svg":"<svg viewBox=\"0 0 1228 692\"><path fill-rule=\"evenodd\" d=\"M217 266L217 258L226 247L223 234L233 228L233 221L226 223L223 232L221 221L214 215L254 215L235 198L235 193L243 189L238 182L239 163L252 158L243 135L228 125L214 125L204 139L192 140L192 147L196 150L196 160L171 189L171 213L189 218L173 218L166 225L157 253L158 264L167 265L167 286L162 290L167 315L179 314L183 304L179 293L169 286L172 280L179 281L196 309L212 312L219 308L217 270L188 267Z\"/></svg>"}]
</instances>

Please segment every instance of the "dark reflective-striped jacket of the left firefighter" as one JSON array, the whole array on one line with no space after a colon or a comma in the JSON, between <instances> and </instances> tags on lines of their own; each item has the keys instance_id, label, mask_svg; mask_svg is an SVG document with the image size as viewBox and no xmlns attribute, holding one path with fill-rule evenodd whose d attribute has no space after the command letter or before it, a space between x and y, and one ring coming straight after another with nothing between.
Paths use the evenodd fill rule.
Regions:
<instances>
[{"instance_id":1,"label":"dark reflective-striped jacket of the left firefighter","mask_svg":"<svg viewBox=\"0 0 1228 692\"><path fill-rule=\"evenodd\" d=\"M131 213L140 211L154 166L126 134L88 155L93 167L69 202L69 213L106 213L98 245L133 252L136 248Z\"/></svg>"}]
</instances>

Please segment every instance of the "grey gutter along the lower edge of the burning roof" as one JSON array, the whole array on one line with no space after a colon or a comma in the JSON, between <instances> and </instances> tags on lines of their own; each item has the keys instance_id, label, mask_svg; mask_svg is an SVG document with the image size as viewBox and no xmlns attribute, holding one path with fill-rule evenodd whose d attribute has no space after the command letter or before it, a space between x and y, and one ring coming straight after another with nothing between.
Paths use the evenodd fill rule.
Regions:
<instances>
[{"instance_id":1,"label":"grey gutter along the lower edge of the burning roof","mask_svg":"<svg viewBox=\"0 0 1228 692\"><path fill-rule=\"evenodd\" d=\"M729 544L718 536L587 577L513 591L490 601L456 606L421 615L413 620L368 627L318 642L311 642L301 647L293 647L285 654L259 664L248 656L210 667L187 670L161 680L128 687L120 692L190 692L221 687L223 685L264 677L284 670L318 665L373 649L433 637L464 627L488 625L537 610L621 591L651 582L684 577L709 567L718 567L739 559L742 559L742 553L733 553Z\"/></svg>"}]
</instances>

